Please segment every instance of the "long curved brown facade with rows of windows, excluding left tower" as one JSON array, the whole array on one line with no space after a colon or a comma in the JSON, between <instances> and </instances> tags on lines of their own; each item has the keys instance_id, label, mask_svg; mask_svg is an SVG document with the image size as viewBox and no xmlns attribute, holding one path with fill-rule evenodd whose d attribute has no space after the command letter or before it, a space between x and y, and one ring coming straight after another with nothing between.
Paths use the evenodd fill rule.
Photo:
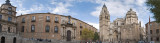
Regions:
<instances>
[{"instance_id":1,"label":"long curved brown facade with rows of windows, excluding left tower","mask_svg":"<svg viewBox=\"0 0 160 43\"><path fill-rule=\"evenodd\" d=\"M17 19L17 32L24 38L76 41L81 40L84 28L97 32L92 25L71 16L33 13L17 16Z\"/></svg>"}]
</instances>

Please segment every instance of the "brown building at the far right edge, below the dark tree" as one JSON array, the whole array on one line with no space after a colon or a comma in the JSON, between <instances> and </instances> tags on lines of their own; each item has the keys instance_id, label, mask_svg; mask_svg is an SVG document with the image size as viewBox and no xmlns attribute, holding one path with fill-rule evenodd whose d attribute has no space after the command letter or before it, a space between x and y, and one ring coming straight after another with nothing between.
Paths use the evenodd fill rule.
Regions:
<instances>
[{"instance_id":1,"label":"brown building at the far right edge, below the dark tree","mask_svg":"<svg viewBox=\"0 0 160 43\"><path fill-rule=\"evenodd\" d=\"M154 41L156 43L160 42L160 23L157 23L155 21L149 22L145 24L146 26L146 34L148 34L148 26L150 26L150 40ZM148 38L147 38L148 39Z\"/></svg>"}]
</instances>

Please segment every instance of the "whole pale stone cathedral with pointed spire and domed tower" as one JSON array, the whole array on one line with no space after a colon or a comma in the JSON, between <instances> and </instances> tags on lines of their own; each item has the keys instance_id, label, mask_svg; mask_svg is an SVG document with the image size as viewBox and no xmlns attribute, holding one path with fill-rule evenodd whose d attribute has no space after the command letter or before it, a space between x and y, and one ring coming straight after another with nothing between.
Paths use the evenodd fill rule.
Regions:
<instances>
[{"instance_id":1,"label":"whole pale stone cathedral with pointed spire and domed tower","mask_svg":"<svg viewBox=\"0 0 160 43\"><path fill-rule=\"evenodd\" d=\"M100 12L100 39L107 42L137 43L144 36L144 28L138 23L136 12L130 9L124 18L110 22L110 14L105 5Z\"/></svg>"}]
</instances>

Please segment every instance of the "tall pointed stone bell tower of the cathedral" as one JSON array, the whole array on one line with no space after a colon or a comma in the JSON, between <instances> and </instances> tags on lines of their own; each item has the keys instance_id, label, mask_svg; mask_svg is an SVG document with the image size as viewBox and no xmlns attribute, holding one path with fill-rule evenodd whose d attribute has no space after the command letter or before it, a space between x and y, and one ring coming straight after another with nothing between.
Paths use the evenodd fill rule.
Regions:
<instances>
[{"instance_id":1,"label":"tall pointed stone bell tower of the cathedral","mask_svg":"<svg viewBox=\"0 0 160 43\"><path fill-rule=\"evenodd\" d=\"M103 5L103 8L99 16L100 23L100 40L108 41L109 40L109 27L110 27L110 15L106 5Z\"/></svg>"}]
</instances>

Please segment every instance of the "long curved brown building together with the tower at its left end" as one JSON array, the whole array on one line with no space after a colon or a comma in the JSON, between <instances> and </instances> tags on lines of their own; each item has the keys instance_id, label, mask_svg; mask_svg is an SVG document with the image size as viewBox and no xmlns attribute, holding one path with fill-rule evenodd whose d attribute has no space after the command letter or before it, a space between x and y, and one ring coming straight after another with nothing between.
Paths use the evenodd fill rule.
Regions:
<instances>
[{"instance_id":1,"label":"long curved brown building together with the tower at its left end","mask_svg":"<svg viewBox=\"0 0 160 43\"><path fill-rule=\"evenodd\" d=\"M16 13L9 0L0 7L0 43L71 43L81 40L84 28L97 32L92 25L71 16Z\"/></svg>"}]
</instances>

